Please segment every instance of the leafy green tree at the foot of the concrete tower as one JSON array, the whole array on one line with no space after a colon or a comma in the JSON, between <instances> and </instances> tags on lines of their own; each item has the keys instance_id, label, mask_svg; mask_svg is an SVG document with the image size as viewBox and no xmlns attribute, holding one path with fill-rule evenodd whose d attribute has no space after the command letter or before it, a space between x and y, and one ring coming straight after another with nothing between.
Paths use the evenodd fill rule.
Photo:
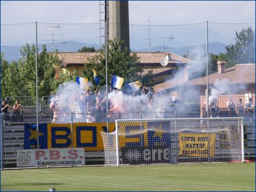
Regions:
<instances>
[{"instance_id":1,"label":"leafy green tree at the foot of the concrete tower","mask_svg":"<svg viewBox=\"0 0 256 192\"><path fill-rule=\"evenodd\" d=\"M117 75L118 77L124 78L125 82L134 82L140 80L145 85L150 84L149 76L152 72L146 75L142 75L142 68L137 64L136 53L129 54L127 49L121 51L120 46L124 42L119 42L117 39L109 40L109 50L107 55L107 71L108 71L108 82L111 83L111 75ZM106 84L106 59L105 59L105 47L103 52L95 55L90 59L90 63L85 64L86 70L82 72L83 77L88 78L93 83L92 89L96 89L96 84L93 79L92 69L95 69L97 75L101 78L99 87L104 87Z\"/></svg>"}]
</instances>

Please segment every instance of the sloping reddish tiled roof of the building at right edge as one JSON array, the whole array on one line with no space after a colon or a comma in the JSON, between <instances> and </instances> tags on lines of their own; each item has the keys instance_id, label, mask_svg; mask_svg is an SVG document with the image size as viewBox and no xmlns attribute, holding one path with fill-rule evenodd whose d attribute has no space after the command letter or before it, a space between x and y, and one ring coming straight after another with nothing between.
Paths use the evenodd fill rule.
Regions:
<instances>
[{"instance_id":1,"label":"sloping reddish tiled roof of the building at right edge","mask_svg":"<svg viewBox=\"0 0 256 192\"><path fill-rule=\"evenodd\" d=\"M214 73L208 76L209 84L214 84L216 79L228 79L232 83L255 83L255 63L236 64L233 67L225 69L222 74ZM205 85L206 77L190 80L185 85Z\"/></svg>"}]
</instances>

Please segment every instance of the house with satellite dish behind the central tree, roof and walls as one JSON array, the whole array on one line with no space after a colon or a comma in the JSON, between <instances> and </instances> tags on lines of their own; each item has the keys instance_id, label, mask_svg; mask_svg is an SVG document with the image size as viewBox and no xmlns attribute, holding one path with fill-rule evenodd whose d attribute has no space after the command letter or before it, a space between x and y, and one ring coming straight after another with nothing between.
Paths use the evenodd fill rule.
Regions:
<instances>
[{"instance_id":1,"label":"house with satellite dish behind the central tree, roof and walls","mask_svg":"<svg viewBox=\"0 0 256 192\"><path fill-rule=\"evenodd\" d=\"M95 57L97 52L60 52L57 53L57 57L61 60L61 68L66 72L73 72L77 70L78 75L81 74L82 70L85 70L83 64L90 63L90 59ZM132 54L132 53L130 53ZM177 69L184 69L189 65L195 64L190 59L181 57L174 53L137 53L139 60L137 64L144 69L143 74L146 74L149 70L152 70L153 75L151 79L154 80L154 84L162 83L165 80L171 78ZM168 64L163 67L160 64L160 60L163 58L168 60Z\"/></svg>"}]
</instances>

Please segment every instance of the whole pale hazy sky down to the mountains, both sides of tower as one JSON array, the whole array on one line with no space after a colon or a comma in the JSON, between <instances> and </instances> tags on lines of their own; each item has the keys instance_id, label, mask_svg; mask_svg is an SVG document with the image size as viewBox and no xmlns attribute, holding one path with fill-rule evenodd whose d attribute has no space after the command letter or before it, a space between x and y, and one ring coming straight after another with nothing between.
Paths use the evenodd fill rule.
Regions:
<instances>
[{"instance_id":1,"label":"whole pale hazy sky down to the mountains, both sides of tower","mask_svg":"<svg viewBox=\"0 0 256 192\"><path fill-rule=\"evenodd\" d=\"M254 23L255 26L255 1L129 1L129 22L136 25L175 25L201 22L218 23ZM39 41L50 41L52 26L45 23L73 23L74 25L62 25L62 29L56 29L54 33L60 34L60 41L77 40L97 43L99 39L99 24L75 25L75 23L99 23L99 1L1 1L1 45L14 45L33 41L35 22L38 26ZM27 25L5 25L14 23L32 23ZM198 24L198 28L205 30L205 25ZM238 25L237 25L238 26ZM235 26L235 27L237 27ZM193 26L194 27L194 26ZM222 26L211 26L214 32ZM241 27L241 25L239 26ZM194 27L195 28L195 27ZM147 38L145 26L130 27L130 36L140 39ZM131 31L132 30L132 31ZM154 34L154 27L152 27ZM155 33L168 31L163 36L171 36L171 32L178 29L155 28ZM234 30L234 26L224 27L221 38L228 38L228 31ZM179 31L179 30L178 30ZM193 32L195 33L195 32ZM231 32L230 32L231 33ZM234 33L232 31L232 33ZM83 37L82 34L86 34ZM97 36L95 35L97 34ZM144 36L144 37L142 37ZM185 36L185 34L184 34ZM194 36L194 34L193 34ZM193 36L190 39L194 38ZM224 37L225 36L225 37ZM56 38L58 35L56 35ZM97 38L96 38L97 37ZM130 42L136 39L130 39ZM160 38L160 37L159 37ZM179 39L179 38L178 38ZM183 38L179 39L181 41ZM186 39L183 41L187 41ZM201 41L194 40L198 43ZM224 40L223 40L224 41ZM190 44L193 44L191 42Z\"/></svg>"}]
</instances>

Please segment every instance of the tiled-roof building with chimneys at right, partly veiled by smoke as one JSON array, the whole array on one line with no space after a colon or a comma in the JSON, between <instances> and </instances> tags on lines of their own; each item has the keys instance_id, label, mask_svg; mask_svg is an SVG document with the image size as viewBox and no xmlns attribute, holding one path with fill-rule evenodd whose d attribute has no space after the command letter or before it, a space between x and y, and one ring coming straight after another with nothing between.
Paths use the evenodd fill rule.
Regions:
<instances>
[{"instance_id":1,"label":"tiled-roof building with chimneys at right, partly veiled by smoke","mask_svg":"<svg viewBox=\"0 0 256 192\"><path fill-rule=\"evenodd\" d=\"M188 69L188 70L187 70ZM177 90L184 102L203 103L205 102L206 77L189 80L189 68L184 69L184 77L171 79L155 85L163 93L170 93ZM245 104L249 98L253 98L255 105L255 63L236 64L225 69L225 62L218 62L218 72L210 74L209 97L217 97L219 108L226 108L228 97L234 102L242 98Z\"/></svg>"}]
</instances>

